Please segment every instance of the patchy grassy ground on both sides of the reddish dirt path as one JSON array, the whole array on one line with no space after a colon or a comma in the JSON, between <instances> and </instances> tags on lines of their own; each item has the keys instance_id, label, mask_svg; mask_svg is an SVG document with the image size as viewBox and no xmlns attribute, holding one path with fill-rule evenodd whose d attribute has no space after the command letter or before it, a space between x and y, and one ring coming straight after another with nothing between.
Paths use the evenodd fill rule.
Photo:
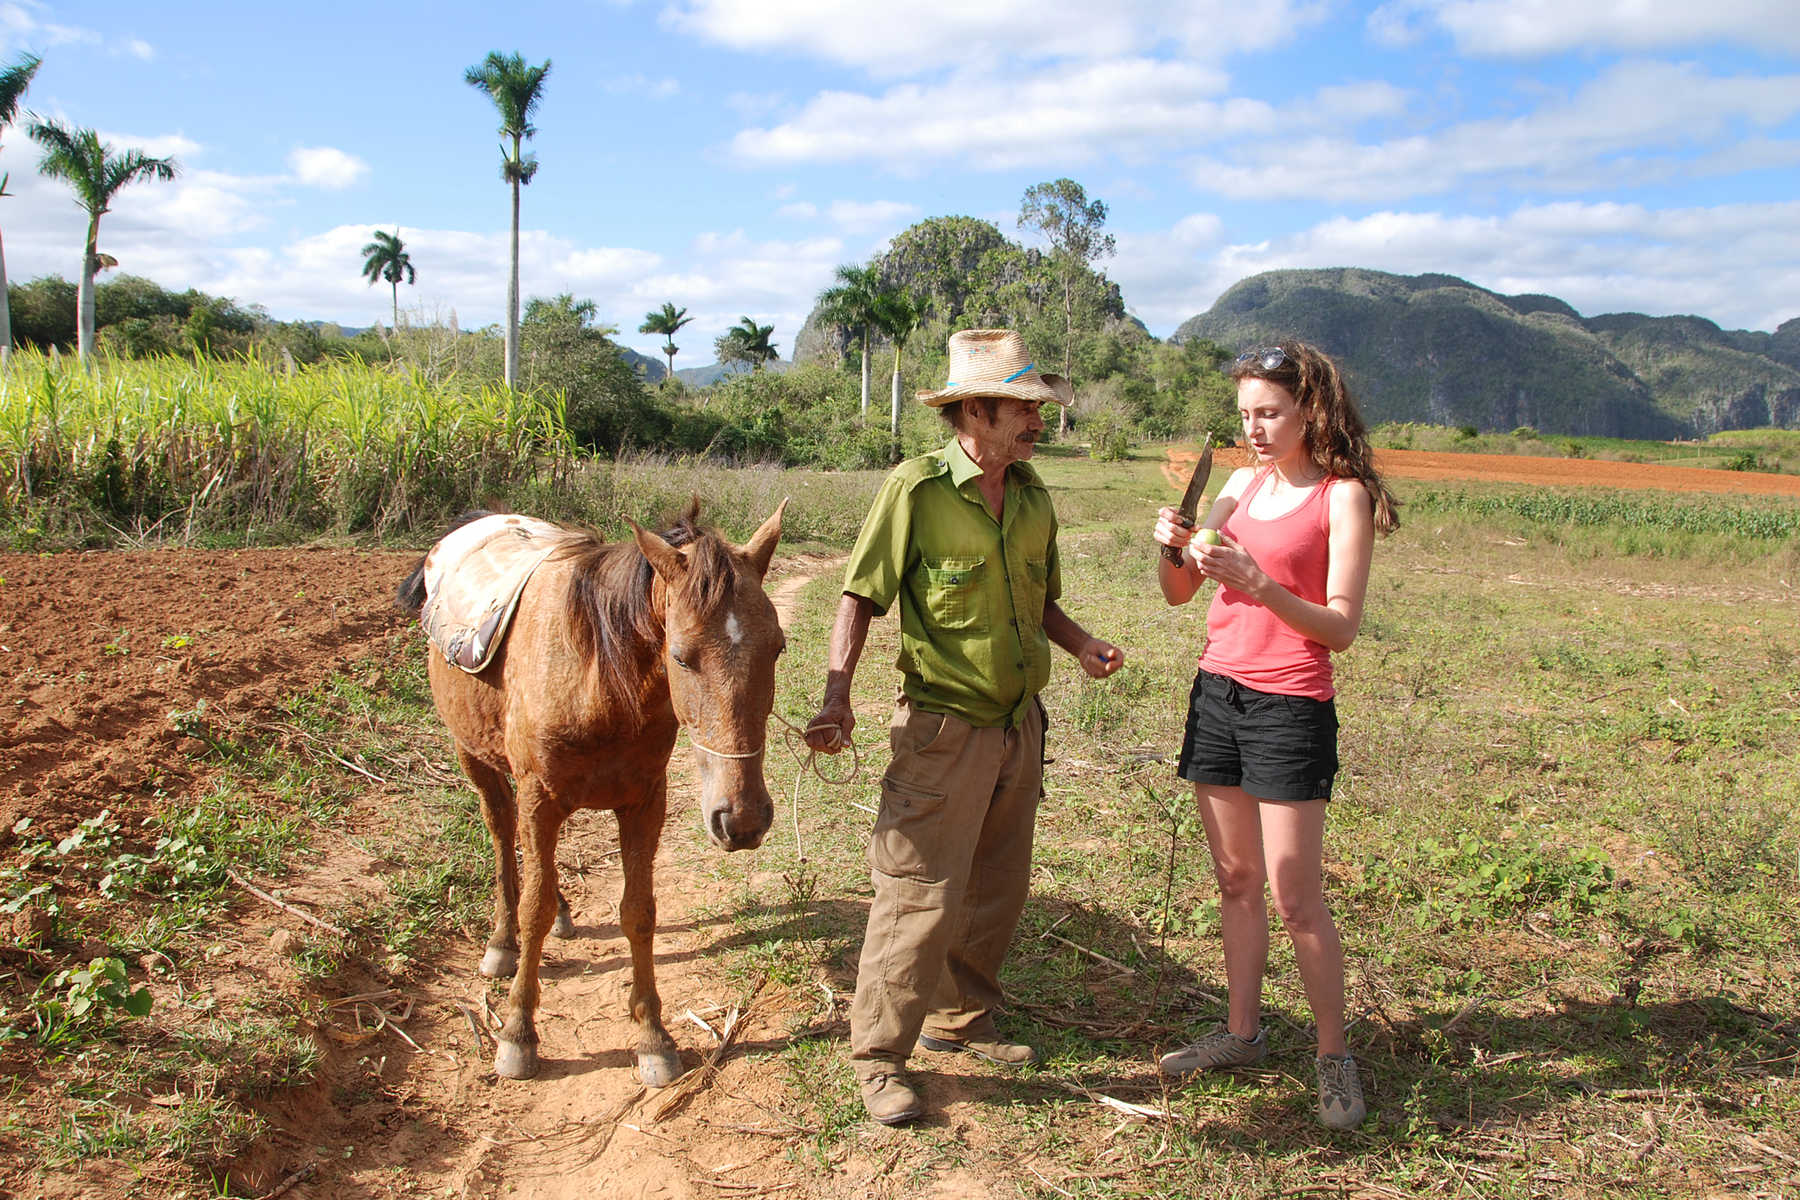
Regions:
<instances>
[{"instance_id":1,"label":"patchy grassy ground on both sides of the reddish dirt path","mask_svg":"<svg viewBox=\"0 0 1800 1200\"><path fill-rule=\"evenodd\" d=\"M1363 637L1339 658L1345 772L1327 831L1372 1117L1330 1135L1312 1121L1310 1015L1280 930L1267 1065L1175 1090L1156 1078L1157 1051L1222 1016L1206 847L1166 761L1204 613L1156 592L1147 529L1166 484L1154 461L1051 453L1040 466L1064 522L1064 604L1129 655L1103 684L1058 662L1046 693L1055 765L1006 975L1008 1025L1046 1065L1004 1076L936 1063L927 1097L958 1101L954 1124L873 1130L855 1099L841 999L868 901L864 808L887 757L895 621L877 622L857 678L860 777L830 788L808 775L790 813L797 766L772 756L783 799L769 846L700 867L716 873L707 916L738 934L720 970L839 997L758 1060L787 1081L778 1108L812 1132L794 1150L808 1191L841 1195L842 1164L862 1151L887 1159L895 1180L923 1186L954 1166L1044 1198L1800 1189L1791 542L1688 533L1643 554L1631 551L1642 533L1631 506L1613 524L1566 529L1444 502L1377 545ZM689 471L614 486L700 491L742 536L808 479ZM875 479L812 480L794 529L842 549ZM796 723L819 700L835 597L835 578L814 581L790 628L778 709ZM65 880L92 876L95 896L119 871L142 876L126 891L157 894L117 909L95 900L77 930L139 963L133 981L160 972L158 955L209 959L223 867L279 873L284 855L340 838L362 772L416 802L394 806L391 828L355 831L385 887L331 914L351 937L301 952L320 999L257 991L254 972L239 972L252 979L229 999L230 1020L193 995L180 1016L158 1007L155 1024L137 1022L130 988L106 979L63 981L0 1011L0 1042L52 1045L67 1081L59 1108L0 1119L0 1144L41 1169L104 1157L148 1164L146 1178L169 1180L171 1164L203 1178L254 1141L259 1097L311 1078L301 1031L326 1018L322 997L382 986L484 918L472 797L418 752L441 734L412 639L380 675L358 669L297 696L279 727L207 730L196 716L194 732L211 732L207 752L230 770L158 824L148 862L124 860L104 828L34 851L58 855ZM247 806L243 788L261 799ZM22 867L7 883L32 878ZM941 1079L958 1072L952 1094ZM175 1087L185 1079L203 1085ZM191 1099L117 1103L158 1094Z\"/></svg>"}]
</instances>

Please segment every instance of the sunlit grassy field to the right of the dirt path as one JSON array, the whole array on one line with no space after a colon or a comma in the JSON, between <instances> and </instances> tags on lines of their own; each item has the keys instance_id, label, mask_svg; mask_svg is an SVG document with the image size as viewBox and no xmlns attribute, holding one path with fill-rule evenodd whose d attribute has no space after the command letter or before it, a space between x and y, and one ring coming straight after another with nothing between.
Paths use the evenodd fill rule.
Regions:
<instances>
[{"instance_id":1,"label":"sunlit grassy field to the right of the dirt path","mask_svg":"<svg viewBox=\"0 0 1800 1200\"><path fill-rule=\"evenodd\" d=\"M1012 1029L1048 1063L983 1081L977 1169L1042 1196L1800 1187L1789 545L1708 536L1674 560L1631 558L1442 511L1379 545L1363 637L1339 662L1327 847L1373 1115L1327 1135L1278 928L1267 1069L1175 1092L1156 1079L1159 1049L1222 1016L1206 847L1165 761L1202 610L1156 592L1148 464L1051 459L1046 473L1066 606L1130 660L1105 684L1062 664L1046 694L1055 765L1006 982ZM835 592L814 585L790 633L781 705L797 723ZM877 802L895 640L877 622L857 678L862 777L805 788L805 862L792 837L763 851L785 896L727 905L754 928L751 912L810 898L805 918L769 921L761 954L779 943L787 973L839 990L868 896L869 817L853 804ZM864 1137L839 1052L785 1051L796 1079L837 1079L794 1101L828 1137ZM1166 1117L1121 1121L1102 1094ZM925 1130L902 1153L929 1160L943 1137Z\"/></svg>"}]
</instances>

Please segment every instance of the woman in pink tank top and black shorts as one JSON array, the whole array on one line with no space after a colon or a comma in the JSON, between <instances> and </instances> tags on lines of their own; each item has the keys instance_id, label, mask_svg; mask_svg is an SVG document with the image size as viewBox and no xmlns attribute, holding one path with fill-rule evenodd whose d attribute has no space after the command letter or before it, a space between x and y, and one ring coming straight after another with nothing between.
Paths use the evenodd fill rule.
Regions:
<instances>
[{"instance_id":1,"label":"woman in pink tank top and black shorts","mask_svg":"<svg viewBox=\"0 0 1800 1200\"><path fill-rule=\"evenodd\" d=\"M1265 1054L1267 883L1318 1025L1319 1121L1350 1130L1363 1123L1363 1085L1345 1045L1343 948L1321 867L1337 774L1330 651L1355 640L1375 531L1399 525L1397 504L1330 358L1280 342L1240 356L1231 378L1255 464L1231 473L1201 536L1175 509L1156 522L1156 540L1183 549L1181 565L1157 556L1170 604L1219 581L1181 777L1193 781L1219 878L1229 1011L1159 1065L1184 1078Z\"/></svg>"}]
</instances>

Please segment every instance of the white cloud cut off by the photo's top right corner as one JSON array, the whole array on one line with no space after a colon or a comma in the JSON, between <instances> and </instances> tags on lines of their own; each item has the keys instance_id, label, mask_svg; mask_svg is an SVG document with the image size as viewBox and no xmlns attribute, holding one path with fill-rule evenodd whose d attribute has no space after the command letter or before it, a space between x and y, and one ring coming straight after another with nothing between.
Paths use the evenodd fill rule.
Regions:
<instances>
[{"instance_id":1,"label":"white cloud cut off by the photo's top right corner","mask_svg":"<svg viewBox=\"0 0 1800 1200\"><path fill-rule=\"evenodd\" d=\"M1417 41L1433 25L1476 56L1634 52L1708 41L1800 49L1793 0L1393 0L1368 18L1370 34L1388 45Z\"/></svg>"}]
</instances>

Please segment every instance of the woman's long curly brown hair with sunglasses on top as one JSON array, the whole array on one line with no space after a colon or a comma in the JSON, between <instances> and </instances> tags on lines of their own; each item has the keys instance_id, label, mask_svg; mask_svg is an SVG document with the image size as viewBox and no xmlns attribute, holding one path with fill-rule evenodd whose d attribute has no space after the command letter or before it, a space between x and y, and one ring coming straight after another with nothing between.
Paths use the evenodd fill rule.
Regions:
<instances>
[{"instance_id":1,"label":"woman's long curly brown hair with sunglasses on top","mask_svg":"<svg viewBox=\"0 0 1800 1200\"><path fill-rule=\"evenodd\" d=\"M1312 462L1327 475L1361 480L1375 506L1377 533L1390 534L1400 527L1400 502L1375 471L1368 426L1350 396L1350 385L1325 351L1283 338L1244 353L1228 374L1233 380L1267 380L1292 396L1305 421L1305 446Z\"/></svg>"}]
</instances>

